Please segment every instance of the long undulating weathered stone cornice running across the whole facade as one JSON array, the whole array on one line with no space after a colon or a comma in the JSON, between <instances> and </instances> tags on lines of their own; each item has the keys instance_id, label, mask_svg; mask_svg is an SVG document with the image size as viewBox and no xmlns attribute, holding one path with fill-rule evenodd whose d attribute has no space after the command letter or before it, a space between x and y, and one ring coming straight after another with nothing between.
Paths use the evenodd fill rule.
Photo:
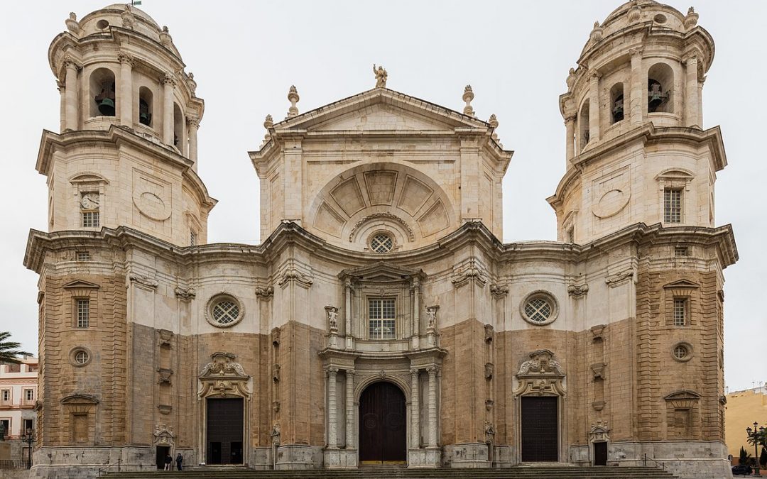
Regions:
<instances>
[{"instance_id":1,"label":"long undulating weathered stone cornice running across the whole facade","mask_svg":"<svg viewBox=\"0 0 767 479\"><path fill-rule=\"evenodd\" d=\"M738 251L731 225L719 228L684 226L663 228L660 223L651 226L638 223L587 244L557 241L522 241L502 244L481 222L471 221L434 244L384 256L339 248L288 221L282 223L263 244L258 246L215 243L180 248L127 227L102 228L101 231L56 231L53 233L31 230L24 264L25 267L39 274L48 251L84 247L104 248L105 241L109 248L117 248L121 251L136 248L184 267L222 262L267 266L270 261L278 258L285 248L298 247L321 254L329 261L344 264L347 271L371 267L380 261L386 261L387 267L407 268L407 271L410 271L440 258L453 257L457 250L467 246L477 248L477 254L482 254L489 261L499 263L581 262L587 261L594 255L620 248L624 244L678 244L680 241L705 246L716 245L723 268L738 261Z\"/></svg>"}]
</instances>

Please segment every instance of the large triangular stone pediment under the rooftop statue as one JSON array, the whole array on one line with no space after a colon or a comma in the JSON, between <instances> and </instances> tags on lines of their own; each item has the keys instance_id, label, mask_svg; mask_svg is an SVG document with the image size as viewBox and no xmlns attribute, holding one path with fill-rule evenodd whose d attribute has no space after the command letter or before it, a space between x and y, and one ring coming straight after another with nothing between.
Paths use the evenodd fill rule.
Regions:
<instances>
[{"instance_id":1,"label":"large triangular stone pediment under the rooftop statue","mask_svg":"<svg viewBox=\"0 0 767 479\"><path fill-rule=\"evenodd\" d=\"M453 131L488 123L387 88L374 88L275 124L275 130Z\"/></svg>"}]
</instances>

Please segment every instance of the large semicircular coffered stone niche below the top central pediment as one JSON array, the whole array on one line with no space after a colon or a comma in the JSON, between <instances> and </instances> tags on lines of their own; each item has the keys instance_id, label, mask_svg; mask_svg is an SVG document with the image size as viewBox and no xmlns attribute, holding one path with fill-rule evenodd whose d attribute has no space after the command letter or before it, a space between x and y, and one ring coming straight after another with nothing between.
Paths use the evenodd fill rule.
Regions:
<instances>
[{"instance_id":1,"label":"large semicircular coffered stone niche below the top central pediment","mask_svg":"<svg viewBox=\"0 0 767 479\"><path fill-rule=\"evenodd\" d=\"M308 228L344 248L369 251L380 233L393 238L392 251L418 248L456 227L453 202L439 185L398 163L347 169L319 192L308 212Z\"/></svg>"}]
</instances>

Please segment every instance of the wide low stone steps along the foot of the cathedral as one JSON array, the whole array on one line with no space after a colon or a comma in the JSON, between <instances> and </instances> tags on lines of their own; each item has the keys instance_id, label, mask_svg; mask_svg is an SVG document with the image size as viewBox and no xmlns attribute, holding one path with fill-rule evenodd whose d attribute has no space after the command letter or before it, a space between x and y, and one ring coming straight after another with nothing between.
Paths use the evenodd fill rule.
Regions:
<instances>
[{"instance_id":1,"label":"wide low stone steps along the foot of the cathedral","mask_svg":"<svg viewBox=\"0 0 767 479\"><path fill-rule=\"evenodd\" d=\"M175 464L174 464L175 465ZM517 466L508 469L407 469L401 467L351 470L254 471L242 466L192 467L184 471L110 472L111 479L673 479L655 468L578 468L573 466Z\"/></svg>"}]
</instances>

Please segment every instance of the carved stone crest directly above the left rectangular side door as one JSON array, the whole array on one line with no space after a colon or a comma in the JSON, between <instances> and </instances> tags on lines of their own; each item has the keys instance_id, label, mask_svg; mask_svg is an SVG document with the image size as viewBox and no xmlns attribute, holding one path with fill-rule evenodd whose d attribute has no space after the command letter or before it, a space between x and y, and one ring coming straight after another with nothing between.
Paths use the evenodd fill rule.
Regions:
<instances>
[{"instance_id":1,"label":"carved stone crest directly above the left rectangular side door","mask_svg":"<svg viewBox=\"0 0 767 479\"><path fill-rule=\"evenodd\" d=\"M199 372L199 389L197 397L203 399L209 396L242 397L250 399L250 376L232 353L213 353L212 361Z\"/></svg>"}]
</instances>

